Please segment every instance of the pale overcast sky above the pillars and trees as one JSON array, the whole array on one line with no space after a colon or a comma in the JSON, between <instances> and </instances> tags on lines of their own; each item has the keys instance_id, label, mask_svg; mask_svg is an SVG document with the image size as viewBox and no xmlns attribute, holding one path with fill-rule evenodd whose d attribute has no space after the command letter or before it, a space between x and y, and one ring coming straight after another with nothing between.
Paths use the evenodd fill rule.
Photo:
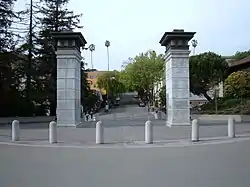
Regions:
<instances>
[{"instance_id":1,"label":"pale overcast sky above the pillars and trees","mask_svg":"<svg viewBox=\"0 0 250 187\"><path fill-rule=\"evenodd\" d=\"M18 8L29 0L18 0ZM249 0L70 0L69 9L83 13L80 29L95 44L94 67L107 70L105 40L111 42L110 69L129 57L154 49L166 31L197 32L197 53L232 55L250 49ZM90 52L82 53L90 65Z\"/></svg>"}]
</instances>

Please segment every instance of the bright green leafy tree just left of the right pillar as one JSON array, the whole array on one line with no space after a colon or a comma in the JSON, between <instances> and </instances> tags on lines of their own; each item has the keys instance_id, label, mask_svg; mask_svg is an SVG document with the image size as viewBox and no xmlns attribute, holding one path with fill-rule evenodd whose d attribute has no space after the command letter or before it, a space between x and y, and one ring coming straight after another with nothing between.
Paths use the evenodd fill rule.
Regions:
<instances>
[{"instance_id":1,"label":"bright green leafy tree just left of the right pillar","mask_svg":"<svg viewBox=\"0 0 250 187\"><path fill-rule=\"evenodd\" d=\"M157 55L155 51L139 54L127 64L123 72L124 84L137 91L145 103L152 103L154 84L163 79L164 61L164 55Z\"/></svg>"}]
</instances>

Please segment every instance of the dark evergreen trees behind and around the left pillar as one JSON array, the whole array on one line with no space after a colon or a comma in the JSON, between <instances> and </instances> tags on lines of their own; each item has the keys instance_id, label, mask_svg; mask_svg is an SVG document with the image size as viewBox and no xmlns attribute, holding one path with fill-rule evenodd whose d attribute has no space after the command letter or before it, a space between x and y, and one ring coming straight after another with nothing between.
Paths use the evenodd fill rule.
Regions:
<instances>
[{"instance_id":1,"label":"dark evergreen trees behind and around the left pillar","mask_svg":"<svg viewBox=\"0 0 250 187\"><path fill-rule=\"evenodd\" d=\"M81 15L75 15L67 8L69 0L37 2L33 12L33 44L28 44L25 35L22 38L25 41L19 43L19 48L15 49L15 44L19 42L15 40L16 36L28 32L27 28L22 28L29 25L25 21L28 20L29 10L21 11L26 12L26 15L22 14L20 18L19 14L13 12L14 2L15 0L0 1L0 116L45 115L48 107L51 115L55 115L56 45L50 33L80 28L78 24ZM13 27L13 20L18 22L16 27L22 28ZM27 55L30 48L32 63L29 63ZM32 67L29 67L30 64ZM31 76L29 99L26 86L28 75ZM82 77L82 81L82 103L92 107L97 96L90 91L86 76Z\"/></svg>"}]
</instances>

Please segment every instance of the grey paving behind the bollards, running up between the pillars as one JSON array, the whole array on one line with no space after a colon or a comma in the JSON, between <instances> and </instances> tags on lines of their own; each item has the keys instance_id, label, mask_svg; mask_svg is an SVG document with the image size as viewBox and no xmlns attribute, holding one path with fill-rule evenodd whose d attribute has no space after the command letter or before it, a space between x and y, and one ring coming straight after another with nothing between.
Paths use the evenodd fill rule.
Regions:
<instances>
[{"instance_id":1,"label":"grey paving behind the bollards, running up between the pillars","mask_svg":"<svg viewBox=\"0 0 250 187\"><path fill-rule=\"evenodd\" d=\"M139 107L119 108L116 111L117 120L113 120L114 113L100 116L105 125L106 143L123 143L144 140L144 124L147 120L147 110ZM154 140L190 139L191 126L165 126L165 120L153 120ZM59 128L58 139L65 143L93 144L95 142L95 122L85 122L82 128ZM250 124L236 124L236 134L249 134ZM0 142L10 141L10 127L0 128ZM227 136L227 122L202 122L200 137ZM22 141L47 141L48 124L21 124Z\"/></svg>"}]
</instances>

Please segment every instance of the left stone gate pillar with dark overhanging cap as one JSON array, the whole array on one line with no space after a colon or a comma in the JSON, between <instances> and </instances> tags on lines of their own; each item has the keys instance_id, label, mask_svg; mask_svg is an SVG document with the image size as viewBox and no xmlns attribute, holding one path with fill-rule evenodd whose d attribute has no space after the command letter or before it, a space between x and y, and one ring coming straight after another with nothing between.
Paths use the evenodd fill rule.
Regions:
<instances>
[{"instance_id":1,"label":"left stone gate pillar with dark overhanging cap","mask_svg":"<svg viewBox=\"0 0 250 187\"><path fill-rule=\"evenodd\" d=\"M53 32L57 42L57 125L81 123L81 52L87 43L80 32Z\"/></svg>"}]
</instances>

